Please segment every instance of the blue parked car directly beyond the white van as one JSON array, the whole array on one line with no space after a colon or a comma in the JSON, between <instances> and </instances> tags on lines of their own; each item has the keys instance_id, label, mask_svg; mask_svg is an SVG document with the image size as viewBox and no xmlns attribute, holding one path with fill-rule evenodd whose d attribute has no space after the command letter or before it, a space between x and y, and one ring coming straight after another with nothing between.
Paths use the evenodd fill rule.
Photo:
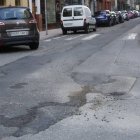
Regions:
<instances>
[{"instance_id":1,"label":"blue parked car directly beyond the white van","mask_svg":"<svg viewBox=\"0 0 140 140\"><path fill-rule=\"evenodd\" d=\"M97 25L111 26L114 24L114 17L111 16L111 12L109 10L95 12L95 18Z\"/></svg>"}]
</instances>

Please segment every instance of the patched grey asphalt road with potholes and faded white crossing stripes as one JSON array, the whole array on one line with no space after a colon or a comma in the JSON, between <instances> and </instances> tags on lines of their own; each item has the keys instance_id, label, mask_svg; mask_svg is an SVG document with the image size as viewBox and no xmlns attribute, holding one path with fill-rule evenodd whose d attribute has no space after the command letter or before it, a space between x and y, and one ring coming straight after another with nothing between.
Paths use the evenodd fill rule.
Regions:
<instances>
[{"instance_id":1,"label":"patched grey asphalt road with potholes and faded white crossing stripes","mask_svg":"<svg viewBox=\"0 0 140 140\"><path fill-rule=\"evenodd\" d=\"M0 139L139 140L140 19L0 52Z\"/></svg>"}]
</instances>

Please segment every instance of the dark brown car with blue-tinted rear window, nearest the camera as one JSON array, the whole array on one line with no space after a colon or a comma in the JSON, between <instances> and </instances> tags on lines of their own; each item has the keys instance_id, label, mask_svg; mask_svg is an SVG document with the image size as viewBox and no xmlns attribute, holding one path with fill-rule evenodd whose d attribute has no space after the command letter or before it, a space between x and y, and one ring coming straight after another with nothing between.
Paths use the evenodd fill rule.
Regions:
<instances>
[{"instance_id":1,"label":"dark brown car with blue-tinted rear window, nearest the camera","mask_svg":"<svg viewBox=\"0 0 140 140\"><path fill-rule=\"evenodd\" d=\"M0 47L13 45L39 47L37 22L27 7L0 7Z\"/></svg>"}]
</instances>

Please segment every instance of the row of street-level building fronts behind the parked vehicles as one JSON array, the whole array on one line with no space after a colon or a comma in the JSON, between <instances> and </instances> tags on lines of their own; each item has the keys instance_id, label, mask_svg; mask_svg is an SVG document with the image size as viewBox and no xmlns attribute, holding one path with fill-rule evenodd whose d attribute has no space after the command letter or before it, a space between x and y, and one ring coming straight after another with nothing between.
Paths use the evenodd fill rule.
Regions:
<instances>
[{"instance_id":1,"label":"row of street-level building fronts behind the parked vehicles","mask_svg":"<svg viewBox=\"0 0 140 140\"><path fill-rule=\"evenodd\" d=\"M125 2L133 0L0 0L0 6L28 6L38 22L39 30L56 28L60 25L60 15L63 6L71 4L87 5L92 15L98 10L122 10ZM127 5L129 5L127 4Z\"/></svg>"}]
</instances>

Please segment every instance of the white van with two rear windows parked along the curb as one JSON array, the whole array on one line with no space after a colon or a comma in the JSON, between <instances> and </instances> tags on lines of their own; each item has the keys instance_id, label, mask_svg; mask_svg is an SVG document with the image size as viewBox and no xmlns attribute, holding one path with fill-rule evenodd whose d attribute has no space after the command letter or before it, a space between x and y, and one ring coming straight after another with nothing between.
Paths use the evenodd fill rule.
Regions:
<instances>
[{"instance_id":1,"label":"white van with two rear windows parked along the curb","mask_svg":"<svg viewBox=\"0 0 140 140\"><path fill-rule=\"evenodd\" d=\"M96 31L96 19L92 17L91 11L84 5L69 5L62 9L61 28L63 34L72 30L84 30L88 33L90 30Z\"/></svg>"}]
</instances>

